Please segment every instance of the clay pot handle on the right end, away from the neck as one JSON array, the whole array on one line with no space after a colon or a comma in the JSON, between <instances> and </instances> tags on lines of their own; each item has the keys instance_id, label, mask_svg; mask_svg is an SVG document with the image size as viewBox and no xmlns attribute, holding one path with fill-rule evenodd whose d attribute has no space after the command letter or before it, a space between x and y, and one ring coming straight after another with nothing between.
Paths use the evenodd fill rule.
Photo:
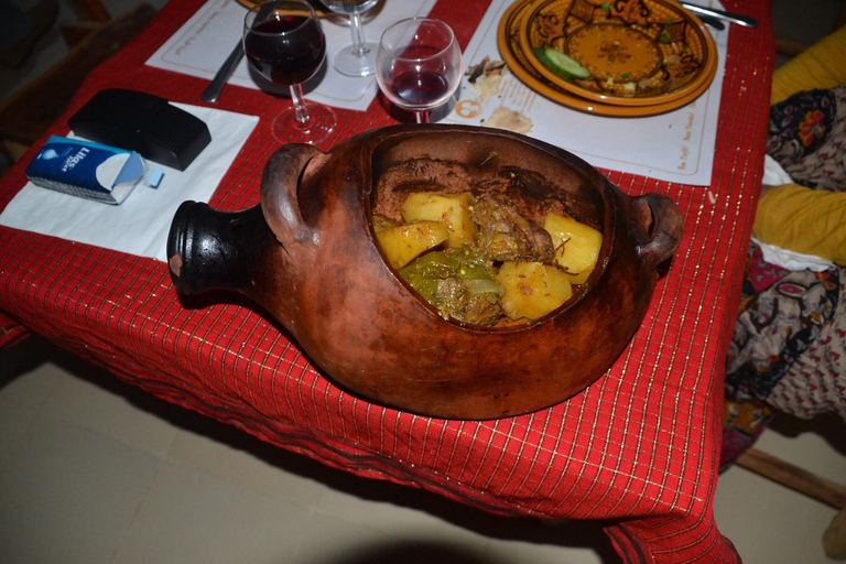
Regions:
<instances>
[{"instance_id":1,"label":"clay pot handle on the right end, away from the neck","mask_svg":"<svg viewBox=\"0 0 846 564\"><path fill-rule=\"evenodd\" d=\"M638 246L638 258L649 270L673 256L682 242L682 212L663 194L643 194L633 198L634 210L649 239Z\"/></svg>"}]
</instances>

